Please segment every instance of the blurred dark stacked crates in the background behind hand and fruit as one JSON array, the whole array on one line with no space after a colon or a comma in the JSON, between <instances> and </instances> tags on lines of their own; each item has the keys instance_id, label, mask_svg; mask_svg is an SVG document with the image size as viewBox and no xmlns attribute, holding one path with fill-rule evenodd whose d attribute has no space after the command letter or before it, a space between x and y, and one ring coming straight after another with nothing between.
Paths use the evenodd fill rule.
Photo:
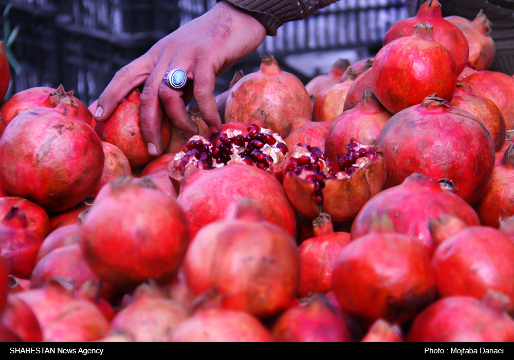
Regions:
<instances>
[{"instance_id":1,"label":"blurred dark stacked crates in the background behind hand and fruit","mask_svg":"<svg viewBox=\"0 0 514 360\"><path fill-rule=\"evenodd\" d=\"M445 10L445 1L439 1ZM466 2L469 14L461 15L470 20L480 10L472 8L473 1ZM215 4L215 0L0 0L0 40L10 51L11 64L5 99L26 88L57 88L62 83L89 105L117 70ZM389 27L413 16L419 4L410 1L408 8L406 0L340 0L306 20L286 23L276 36L267 36L258 50L218 77L215 93L228 89L234 71L256 71L262 53L273 54L283 70L304 84L327 73L339 58L352 63L373 56Z\"/></svg>"}]
</instances>

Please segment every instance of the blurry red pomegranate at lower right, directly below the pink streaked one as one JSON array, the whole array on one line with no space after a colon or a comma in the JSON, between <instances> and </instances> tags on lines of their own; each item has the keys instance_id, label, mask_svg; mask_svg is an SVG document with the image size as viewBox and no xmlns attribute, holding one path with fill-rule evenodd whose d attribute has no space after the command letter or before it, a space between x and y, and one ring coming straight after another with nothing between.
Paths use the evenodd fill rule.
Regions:
<instances>
[{"instance_id":1,"label":"blurry red pomegranate at lower right, directly below the pink streaked one","mask_svg":"<svg viewBox=\"0 0 514 360\"><path fill-rule=\"evenodd\" d=\"M341 308L368 325L379 318L403 324L435 297L427 251L416 239L394 233L368 234L346 245L332 286Z\"/></svg>"}]
</instances>

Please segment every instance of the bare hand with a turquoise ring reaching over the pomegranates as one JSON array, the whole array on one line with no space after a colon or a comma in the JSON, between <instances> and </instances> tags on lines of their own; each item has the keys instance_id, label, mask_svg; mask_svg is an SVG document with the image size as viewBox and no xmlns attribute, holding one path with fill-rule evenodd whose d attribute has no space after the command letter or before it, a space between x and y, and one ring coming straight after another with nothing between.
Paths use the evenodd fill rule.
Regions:
<instances>
[{"instance_id":1,"label":"bare hand with a turquoise ring reaching over the pomegranates","mask_svg":"<svg viewBox=\"0 0 514 360\"><path fill-rule=\"evenodd\" d=\"M218 132L222 123L213 93L215 77L258 48L265 36L266 29L251 15L219 2L121 68L100 95L95 120L106 121L127 94L144 83L140 127L150 155L157 156L163 150L163 109L176 128L198 134L198 126L186 110L193 96L204 121L211 131ZM162 82L164 73L175 68L188 75L183 90L173 90Z\"/></svg>"}]
</instances>

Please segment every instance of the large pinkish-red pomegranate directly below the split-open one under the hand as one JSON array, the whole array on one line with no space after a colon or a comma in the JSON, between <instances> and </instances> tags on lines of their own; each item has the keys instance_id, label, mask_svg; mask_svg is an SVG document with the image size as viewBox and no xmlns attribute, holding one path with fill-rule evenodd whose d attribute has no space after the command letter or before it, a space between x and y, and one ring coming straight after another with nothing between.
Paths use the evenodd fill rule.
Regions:
<instances>
[{"instance_id":1,"label":"large pinkish-red pomegranate directly below the split-open one under the hand","mask_svg":"<svg viewBox=\"0 0 514 360\"><path fill-rule=\"evenodd\" d=\"M199 174L180 188L177 201L186 213L194 238L205 225L233 217L237 203L244 197L258 204L266 221L296 236L295 210L282 185L254 166L234 164Z\"/></svg>"}]
</instances>

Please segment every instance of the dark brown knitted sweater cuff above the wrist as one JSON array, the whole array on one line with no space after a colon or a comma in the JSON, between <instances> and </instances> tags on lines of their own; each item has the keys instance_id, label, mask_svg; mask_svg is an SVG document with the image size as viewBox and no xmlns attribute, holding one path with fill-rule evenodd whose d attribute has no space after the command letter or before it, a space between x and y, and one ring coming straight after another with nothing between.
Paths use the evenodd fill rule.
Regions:
<instances>
[{"instance_id":1,"label":"dark brown knitted sweater cuff above the wrist","mask_svg":"<svg viewBox=\"0 0 514 360\"><path fill-rule=\"evenodd\" d=\"M219 2L220 0L218 0ZM276 35L277 29L288 21L300 20L338 0L225 0L250 13L268 31Z\"/></svg>"}]
</instances>

